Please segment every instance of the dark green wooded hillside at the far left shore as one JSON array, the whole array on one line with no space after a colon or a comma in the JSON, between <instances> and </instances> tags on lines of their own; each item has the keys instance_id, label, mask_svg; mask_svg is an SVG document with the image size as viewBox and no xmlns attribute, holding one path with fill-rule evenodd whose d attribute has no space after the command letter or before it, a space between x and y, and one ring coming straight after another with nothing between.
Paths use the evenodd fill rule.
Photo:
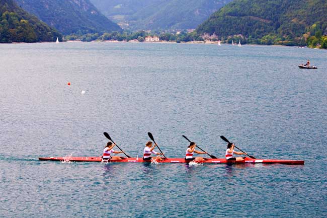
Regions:
<instances>
[{"instance_id":1,"label":"dark green wooded hillside at the far left shore","mask_svg":"<svg viewBox=\"0 0 327 218\"><path fill-rule=\"evenodd\" d=\"M62 35L17 6L13 0L0 0L0 43L55 41Z\"/></svg>"}]
</instances>

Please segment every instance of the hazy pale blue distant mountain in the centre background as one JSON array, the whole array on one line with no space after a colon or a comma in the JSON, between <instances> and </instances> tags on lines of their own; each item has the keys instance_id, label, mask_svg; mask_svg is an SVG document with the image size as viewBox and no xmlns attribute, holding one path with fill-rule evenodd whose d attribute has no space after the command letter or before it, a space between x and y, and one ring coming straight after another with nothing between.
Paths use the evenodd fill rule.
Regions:
<instances>
[{"instance_id":1,"label":"hazy pale blue distant mountain in the centre background","mask_svg":"<svg viewBox=\"0 0 327 218\"><path fill-rule=\"evenodd\" d=\"M195 29L232 0L90 0L124 29Z\"/></svg>"}]
</instances>

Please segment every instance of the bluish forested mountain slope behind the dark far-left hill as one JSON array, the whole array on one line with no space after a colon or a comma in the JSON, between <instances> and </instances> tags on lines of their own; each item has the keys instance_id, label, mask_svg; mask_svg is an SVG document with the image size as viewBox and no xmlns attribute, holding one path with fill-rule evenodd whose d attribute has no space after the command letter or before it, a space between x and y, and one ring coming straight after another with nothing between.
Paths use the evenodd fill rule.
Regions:
<instances>
[{"instance_id":1,"label":"bluish forested mountain slope behind the dark far-left hill","mask_svg":"<svg viewBox=\"0 0 327 218\"><path fill-rule=\"evenodd\" d=\"M89 0L16 0L19 6L64 34L121 30Z\"/></svg>"}]
</instances>

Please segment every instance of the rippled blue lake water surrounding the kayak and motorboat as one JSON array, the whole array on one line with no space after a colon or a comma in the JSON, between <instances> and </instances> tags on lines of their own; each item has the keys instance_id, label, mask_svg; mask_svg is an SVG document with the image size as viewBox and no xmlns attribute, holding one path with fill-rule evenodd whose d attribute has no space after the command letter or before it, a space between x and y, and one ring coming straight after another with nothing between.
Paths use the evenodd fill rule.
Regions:
<instances>
[{"instance_id":1,"label":"rippled blue lake water surrounding the kayak and motorboat","mask_svg":"<svg viewBox=\"0 0 327 218\"><path fill-rule=\"evenodd\" d=\"M299 69L310 59L316 70ZM327 51L150 43L0 44L0 217L327 216ZM67 86L67 82L71 86ZM81 91L86 93L81 95ZM304 166L40 162L188 142Z\"/></svg>"}]
</instances>

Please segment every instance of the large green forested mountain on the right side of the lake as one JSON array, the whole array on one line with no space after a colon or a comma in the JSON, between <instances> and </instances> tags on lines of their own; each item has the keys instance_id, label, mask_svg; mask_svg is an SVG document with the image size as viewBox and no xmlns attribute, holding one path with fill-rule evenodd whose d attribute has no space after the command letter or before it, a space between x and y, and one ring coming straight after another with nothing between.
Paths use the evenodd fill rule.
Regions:
<instances>
[{"instance_id":1,"label":"large green forested mountain on the right side of the lake","mask_svg":"<svg viewBox=\"0 0 327 218\"><path fill-rule=\"evenodd\" d=\"M327 27L325 0L235 0L196 29L219 39L259 44L305 45ZM243 42L243 43L244 43Z\"/></svg>"}]
</instances>

